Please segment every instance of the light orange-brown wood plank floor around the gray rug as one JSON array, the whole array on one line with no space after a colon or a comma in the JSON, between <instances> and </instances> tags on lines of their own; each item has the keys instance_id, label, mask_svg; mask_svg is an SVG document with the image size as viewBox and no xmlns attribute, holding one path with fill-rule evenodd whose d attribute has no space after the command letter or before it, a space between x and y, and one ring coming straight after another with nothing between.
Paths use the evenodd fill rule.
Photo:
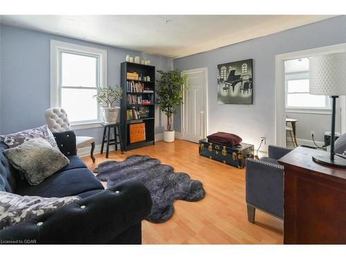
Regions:
<instances>
[{"instance_id":1,"label":"light orange-brown wood plank floor around the gray rug","mask_svg":"<svg viewBox=\"0 0 346 259\"><path fill-rule=\"evenodd\" d=\"M143 220L143 244L282 244L281 220L257 210L255 224L248 222L244 169L201 157L198 144L183 140L156 142L124 155L112 151L108 160L124 160L133 154L150 155L170 164L175 172L200 180L206 190L206 197L199 202L176 200L174 215L165 223ZM90 157L83 157L91 170L107 160L104 154L95 158L93 164Z\"/></svg>"}]
</instances>

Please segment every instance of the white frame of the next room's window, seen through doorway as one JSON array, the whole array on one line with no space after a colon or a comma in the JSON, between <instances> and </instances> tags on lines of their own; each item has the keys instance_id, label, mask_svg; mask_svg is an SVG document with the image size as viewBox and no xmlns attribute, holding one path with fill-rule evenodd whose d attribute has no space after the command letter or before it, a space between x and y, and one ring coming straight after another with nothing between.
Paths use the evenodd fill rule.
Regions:
<instances>
[{"instance_id":1,"label":"white frame of the next room's window, seen through doorway","mask_svg":"<svg viewBox=\"0 0 346 259\"><path fill-rule=\"evenodd\" d=\"M331 113L331 105L329 96L325 97L325 107L309 107L309 106L287 106L287 95L288 93L288 81L289 80L299 80L299 79L309 79L309 71L296 72L296 73L285 73L284 79L284 89L285 89L285 107L286 112L291 113ZM309 92L299 92L299 93L309 93Z\"/></svg>"}]
</instances>

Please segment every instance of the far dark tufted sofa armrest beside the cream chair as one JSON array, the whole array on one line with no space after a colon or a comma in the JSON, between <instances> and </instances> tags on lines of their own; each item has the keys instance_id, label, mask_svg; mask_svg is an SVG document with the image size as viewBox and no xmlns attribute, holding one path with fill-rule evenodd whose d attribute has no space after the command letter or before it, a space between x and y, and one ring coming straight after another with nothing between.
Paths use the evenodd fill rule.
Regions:
<instances>
[{"instance_id":1,"label":"far dark tufted sofa armrest beside the cream chair","mask_svg":"<svg viewBox=\"0 0 346 259\"><path fill-rule=\"evenodd\" d=\"M66 155L77 155L77 146L75 144L75 132L74 131L63 131L53 133L57 146L60 151Z\"/></svg>"}]
</instances>

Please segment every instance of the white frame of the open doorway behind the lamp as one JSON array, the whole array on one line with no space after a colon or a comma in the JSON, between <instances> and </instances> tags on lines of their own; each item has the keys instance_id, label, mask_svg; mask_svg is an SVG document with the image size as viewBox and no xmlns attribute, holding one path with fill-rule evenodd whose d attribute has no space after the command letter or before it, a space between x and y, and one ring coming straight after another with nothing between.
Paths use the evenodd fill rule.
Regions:
<instances>
[{"instance_id":1,"label":"white frame of the open doorway behind the lamp","mask_svg":"<svg viewBox=\"0 0 346 259\"><path fill-rule=\"evenodd\" d=\"M275 56L275 144L286 146L285 93L284 93L284 61L316 55L326 55L336 52L346 52L346 44L335 44L309 50L300 50ZM346 100L340 96L341 133L346 132Z\"/></svg>"}]
</instances>

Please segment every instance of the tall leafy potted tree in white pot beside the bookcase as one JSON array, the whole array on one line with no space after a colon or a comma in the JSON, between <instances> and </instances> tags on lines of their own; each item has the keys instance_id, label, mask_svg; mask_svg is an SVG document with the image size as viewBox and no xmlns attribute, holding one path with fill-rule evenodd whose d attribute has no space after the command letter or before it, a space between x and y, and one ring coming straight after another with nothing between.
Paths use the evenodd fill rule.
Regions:
<instances>
[{"instance_id":1,"label":"tall leafy potted tree in white pot beside the bookcase","mask_svg":"<svg viewBox=\"0 0 346 259\"><path fill-rule=\"evenodd\" d=\"M157 70L161 78L156 80L156 104L160 110L167 116L167 130L163 131L163 140L165 142L174 142L174 131L172 130L172 116L176 114L176 108L181 104L183 99L183 84L186 77L181 77L179 70L163 72Z\"/></svg>"}]
</instances>

